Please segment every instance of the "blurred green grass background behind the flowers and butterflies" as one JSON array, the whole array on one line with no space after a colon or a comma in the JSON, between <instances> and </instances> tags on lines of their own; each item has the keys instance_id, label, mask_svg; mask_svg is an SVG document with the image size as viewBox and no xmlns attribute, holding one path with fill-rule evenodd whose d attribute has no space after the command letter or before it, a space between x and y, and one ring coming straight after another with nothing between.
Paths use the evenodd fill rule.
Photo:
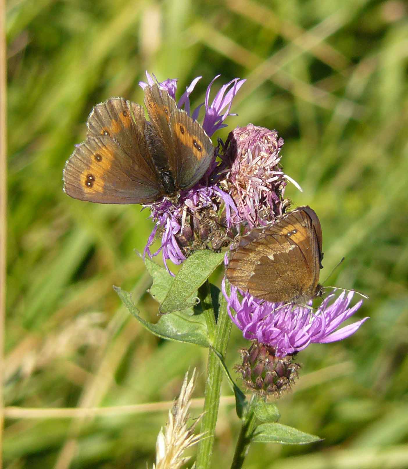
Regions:
<instances>
[{"instance_id":1,"label":"blurred green grass background behind the flowers and butterflies","mask_svg":"<svg viewBox=\"0 0 408 469\"><path fill-rule=\"evenodd\" d=\"M248 81L229 129L278 130L285 172L303 188L286 195L321 220L322 279L345 256L329 283L370 295L358 313L370 320L348 340L302 352L299 385L279 402L281 423L325 440L253 445L245 467L407 467L407 5L10 0L7 8L6 405L172 400L194 366L202 396L206 351L152 337L112 289L134 291L144 317L157 318L133 252L151 231L148 212L70 199L61 176L91 107L118 95L141 102L144 70L178 77L180 90L202 75L195 104L213 76L239 76ZM234 331L229 366L244 345ZM166 417L9 418L3 458L10 468L145 468ZM229 465L238 429L234 406L222 407L219 467Z\"/></svg>"}]
</instances>

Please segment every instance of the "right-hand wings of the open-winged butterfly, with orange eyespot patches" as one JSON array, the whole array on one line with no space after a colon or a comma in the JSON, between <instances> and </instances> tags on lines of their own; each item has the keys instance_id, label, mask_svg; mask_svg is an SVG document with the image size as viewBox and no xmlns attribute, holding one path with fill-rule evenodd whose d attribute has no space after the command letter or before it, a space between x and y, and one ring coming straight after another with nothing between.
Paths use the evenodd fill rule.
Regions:
<instances>
[{"instance_id":1,"label":"right-hand wings of the open-winged butterfly, with orange eyespot patches","mask_svg":"<svg viewBox=\"0 0 408 469\"><path fill-rule=\"evenodd\" d=\"M158 85L146 87L144 92L158 149L153 156L155 164L170 170L177 189L189 189L210 166L214 154L210 137Z\"/></svg>"}]
</instances>

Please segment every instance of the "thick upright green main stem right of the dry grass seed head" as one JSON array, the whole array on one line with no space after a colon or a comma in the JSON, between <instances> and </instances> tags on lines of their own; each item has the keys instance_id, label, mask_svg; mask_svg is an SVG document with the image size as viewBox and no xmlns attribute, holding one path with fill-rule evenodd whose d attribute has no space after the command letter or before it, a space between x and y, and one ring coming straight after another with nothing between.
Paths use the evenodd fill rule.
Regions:
<instances>
[{"instance_id":1,"label":"thick upright green main stem right of the dry grass seed head","mask_svg":"<svg viewBox=\"0 0 408 469\"><path fill-rule=\"evenodd\" d=\"M221 304L219 307L219 316L217 326L215 328L213 345L214 348L224 356L227 350L232 322L227 313L227 302L222 294L220 296ZM197 469L210 468L212 448L214 446L215 438L215 424L218 416L222 372L218 357L211 349L209 349L207 379L205 381L204 391L204 415L200 429L205 436L200 440L197 447Z\"/></svg>"}]
</instances>

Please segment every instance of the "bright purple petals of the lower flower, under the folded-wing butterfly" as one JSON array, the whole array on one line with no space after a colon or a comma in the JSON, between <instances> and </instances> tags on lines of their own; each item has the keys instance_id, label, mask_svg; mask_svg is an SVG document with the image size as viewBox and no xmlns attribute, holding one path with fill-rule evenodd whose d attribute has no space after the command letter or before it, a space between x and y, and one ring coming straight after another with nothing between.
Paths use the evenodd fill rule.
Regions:
<instances>
[{"instance_id":1,"label":"bright purple petals of the lower flower, under the folded-wing butterfly","mask_svg":"<svg viewBox=\"0 0 408 469\"><path fill-rule=\"evenodd\" d=\"M222 291L227 299L227 310L234 324L248 340L257 340L275 350L275 356L284 357L303 350L311 343L329 343L354 334L368 317L336 330L362 305L360 300L349 308L355 292L328 295L317 310L299 304L269 303L247 294L240 299L239 290L231 285L227 295L225 279ZM235 314L233 313L235 311Z\"/></svg>"}]
</instances>

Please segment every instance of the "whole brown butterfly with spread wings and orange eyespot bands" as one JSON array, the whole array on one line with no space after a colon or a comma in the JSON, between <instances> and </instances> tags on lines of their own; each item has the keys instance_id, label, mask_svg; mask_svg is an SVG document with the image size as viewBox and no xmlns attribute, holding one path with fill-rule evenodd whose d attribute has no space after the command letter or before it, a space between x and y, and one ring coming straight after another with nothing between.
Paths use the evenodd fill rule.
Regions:
<instances>
[{"instance_id":1,"label":"whole brown butterfly with spread wings and orange eyespot bands","mask_svg":"<svg viewBox=\"0 0 408 469\"><path fill-rule=\"evenodd\" d=\"M63 174L70 197L100 204L148 204L204 175L214 148L204 129L159 85L144 90L144 108L123 98L95 106L85 142Z\"/></svg>"}]
</instances>

